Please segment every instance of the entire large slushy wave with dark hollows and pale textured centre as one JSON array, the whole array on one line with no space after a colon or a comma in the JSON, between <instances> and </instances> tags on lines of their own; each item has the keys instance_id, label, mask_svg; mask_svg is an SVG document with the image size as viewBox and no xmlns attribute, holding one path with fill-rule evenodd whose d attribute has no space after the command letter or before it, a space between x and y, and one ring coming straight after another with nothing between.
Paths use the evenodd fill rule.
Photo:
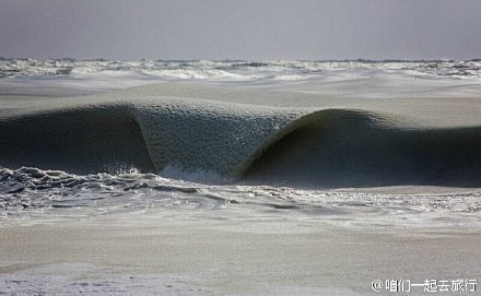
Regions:
<instances>
[{"instance_id":1,"label":"entire large slushy wave with dark hollows and pale textured centre","mask_svg":"<svg viewBox=\"0 0 481 296\"><path fill-rule=\"evenodd\" d=\"M427 129L361 109L176 97L0 118L0 165L306 187L481 186L481 127Z\"/></svg>"}]
</instances>

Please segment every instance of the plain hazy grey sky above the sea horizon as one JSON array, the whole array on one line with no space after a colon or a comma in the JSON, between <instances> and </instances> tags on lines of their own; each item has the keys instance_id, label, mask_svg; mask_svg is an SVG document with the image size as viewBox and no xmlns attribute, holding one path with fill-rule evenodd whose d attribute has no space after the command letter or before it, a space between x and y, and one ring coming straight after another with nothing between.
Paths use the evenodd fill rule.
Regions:
<instances>
[{"instance_id":1,"label":"plain hazy grey sky above the sea horizon","mask_svg":"<svg viewBox=\"0 0 481 296\"><path fill-rule=\"evenodd\" d=\"M480 0L0 0L0 56L481 58Z\"/></svg>"}]
</instances>

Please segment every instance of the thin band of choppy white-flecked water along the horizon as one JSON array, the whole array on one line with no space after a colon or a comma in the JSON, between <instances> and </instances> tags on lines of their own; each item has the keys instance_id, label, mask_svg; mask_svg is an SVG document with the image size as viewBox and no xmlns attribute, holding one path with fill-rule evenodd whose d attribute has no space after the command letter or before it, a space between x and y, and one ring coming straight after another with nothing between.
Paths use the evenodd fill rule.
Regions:
<instances>
[{"instance_id":1,"label":"thin band of choppy white-flecked water along the horizon","mask_svg":"<svg viewBox=\"0 0 481 296\"><path fill-rule=\"evenodd\" d=\"M73 59L1 59L0 79L72 76L105 72L128 73L157 80L308 80L338 71L397 72L429 79L481 79L481 60L280 60L280 61L209 61L209 60L73 60Z\"/></svg>"}]
</instances>

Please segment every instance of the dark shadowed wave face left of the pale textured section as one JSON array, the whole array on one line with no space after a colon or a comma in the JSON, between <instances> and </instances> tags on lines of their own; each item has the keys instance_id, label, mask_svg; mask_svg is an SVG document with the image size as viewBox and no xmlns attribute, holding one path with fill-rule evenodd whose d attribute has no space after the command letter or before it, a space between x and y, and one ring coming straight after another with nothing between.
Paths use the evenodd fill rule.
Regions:
<instances>
[{"instance_id":1,"label":"dark shadowed wave face left of the pale textured section","mask_svg":"<svg viewBox=\"0 0 481 296\"><path fill-rule=\"evenodd\" d=\"M7 167L27 165L77 174L132 166L154 170L139 126L116 106L1 120L0 134L0 162Z\"/></svg>"}]
</instances>

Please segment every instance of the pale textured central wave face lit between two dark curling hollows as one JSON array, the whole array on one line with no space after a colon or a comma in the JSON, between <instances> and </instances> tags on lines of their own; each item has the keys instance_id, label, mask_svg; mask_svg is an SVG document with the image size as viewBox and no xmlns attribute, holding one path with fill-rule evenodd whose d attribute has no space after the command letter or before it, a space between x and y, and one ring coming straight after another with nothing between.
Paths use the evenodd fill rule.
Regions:
<instances>
[{"instance_id":1,"label":"pale textured central wave face lit between two dark curling hollows","mask_svg":"<svg viewBox=\"0 0 481 296\"><path fill-rule=\"evenodd\" d=\"M157 171L178 166L226 178L241 177L251 159L303 114L187 98L154 98L131 110Z\"/></svg>"}]
</instances>

